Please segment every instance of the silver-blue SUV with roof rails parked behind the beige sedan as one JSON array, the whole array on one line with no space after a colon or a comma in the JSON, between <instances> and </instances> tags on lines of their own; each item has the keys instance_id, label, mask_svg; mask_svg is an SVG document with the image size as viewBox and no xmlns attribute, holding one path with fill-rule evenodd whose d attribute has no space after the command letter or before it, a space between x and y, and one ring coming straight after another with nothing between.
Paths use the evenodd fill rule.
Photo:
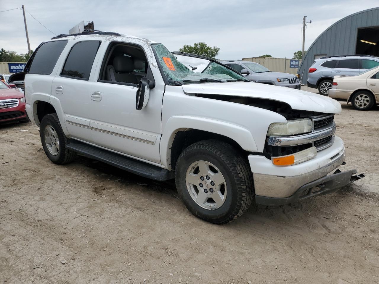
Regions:
<instances>
[{"instance_id":1,"label":"silver-blue SUV with roof rails parked behind the beige sedan","mask_svg":"<svg viewBox=\"0 0 379 284\"><path fill-rule=\"evenodd\" d=\"M337 55L315 59L308 71L308 87L328 95L334 76L354 76L379 66L379 58L371 55Z\"/></svg>"}]
</instances>

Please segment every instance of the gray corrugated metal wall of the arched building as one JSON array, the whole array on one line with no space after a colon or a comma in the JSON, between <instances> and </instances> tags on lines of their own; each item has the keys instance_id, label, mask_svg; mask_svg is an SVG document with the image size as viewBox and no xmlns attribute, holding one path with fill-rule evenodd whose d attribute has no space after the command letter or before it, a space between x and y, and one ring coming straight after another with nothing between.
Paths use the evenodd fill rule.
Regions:
<instances>
[{"instance_id":1,"label":"gray corrugated metal wall of the arched building","mask_svg":"<svg viewBox=\"0 0 379 284\"><path fill-rule=\"evenodd\" d=\"M351 14L331 25L308 48L298 71L300 76L304 74L301 83L307 83L308 69L312 66L315 55L356 54L358 29L377 26L379 26L379 7Z\"/></svg>"}]
</instances>

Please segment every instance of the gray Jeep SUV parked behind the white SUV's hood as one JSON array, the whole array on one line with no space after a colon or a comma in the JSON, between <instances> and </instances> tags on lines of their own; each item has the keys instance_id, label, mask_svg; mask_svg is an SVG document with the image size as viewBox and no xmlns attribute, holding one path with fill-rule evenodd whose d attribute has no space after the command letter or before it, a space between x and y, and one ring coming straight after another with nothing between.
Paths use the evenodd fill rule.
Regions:
<instances>
[{"instance_id":1,"label":"gray Jeep SUV parked behind the white SUV's hood","mask_svg":"<svg viewBox=\"0 0 379 284\"><path fill-rule=\"evenodd\" d=\"M300 90L300 81L296 75L273 72L251 61L222 61L221 63L240 72L249 81Z\"/></svg>"}]
</instances>

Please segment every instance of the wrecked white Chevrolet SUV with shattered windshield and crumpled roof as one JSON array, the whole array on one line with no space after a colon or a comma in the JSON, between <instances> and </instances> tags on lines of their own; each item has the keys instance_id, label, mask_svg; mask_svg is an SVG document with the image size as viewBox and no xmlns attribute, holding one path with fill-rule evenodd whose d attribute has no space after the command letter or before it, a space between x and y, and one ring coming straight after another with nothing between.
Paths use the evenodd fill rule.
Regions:
<instances>
[{"instance_id":1,"label":"wrecked white Chevrolet SUV with shattered windshield and crumpled roof","mask_svg":"<svg viewBox=\"0 0 379 284\"><path fill-rule=\"evenodd\" d=\"M253 200L290 203L363 176L336 170L345 161L337 101L249 82L213 59L195 73L147 39L57 36L10 80L23 76L27 113L52 162L80 153L175 178L185 206L209 222L230 222Z\"/></svg>"}]
</instances>

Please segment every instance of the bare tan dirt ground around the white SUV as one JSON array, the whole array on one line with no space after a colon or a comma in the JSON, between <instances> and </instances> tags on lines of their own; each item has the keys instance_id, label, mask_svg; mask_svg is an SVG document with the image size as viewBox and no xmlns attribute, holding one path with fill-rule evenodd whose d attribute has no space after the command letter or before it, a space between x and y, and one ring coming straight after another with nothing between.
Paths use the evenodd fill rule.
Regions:
<instances>
[{"instance_id":1,"label":"bare tan dirt ground around the white SUV","mask_svg":"<svg viewBox=\"0 0 379 284\"><path fill-rule=\"evenodd\" d=\"M365 178L222 226L193 217L172 182L58 166L35 125L0 126L0 283L378 283L379 107L342 108L340 169Z\"/></svg>"}]
</instances>

